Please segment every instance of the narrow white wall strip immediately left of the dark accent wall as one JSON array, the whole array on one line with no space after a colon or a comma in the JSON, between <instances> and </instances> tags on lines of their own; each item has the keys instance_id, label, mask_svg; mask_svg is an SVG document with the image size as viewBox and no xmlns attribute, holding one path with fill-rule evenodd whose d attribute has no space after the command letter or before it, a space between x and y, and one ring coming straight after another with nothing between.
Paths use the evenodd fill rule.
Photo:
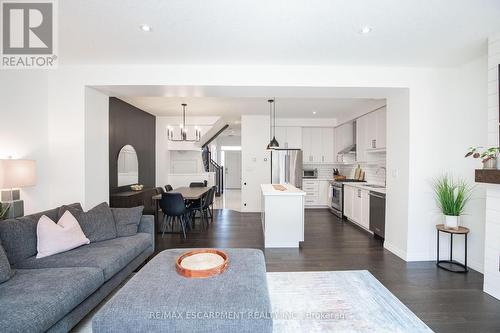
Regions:
<instances>
[{"instance_id":1,"label":"narrow white wall strip immediately left of the dark accent wall","mask_svg":"<svg viewBox=\"0 0 500 333\"><path fill-rule=\"evenodd\" d=\"M109 97L85 88L84 209L109 201Z\"/></svg>"}]
</instances>

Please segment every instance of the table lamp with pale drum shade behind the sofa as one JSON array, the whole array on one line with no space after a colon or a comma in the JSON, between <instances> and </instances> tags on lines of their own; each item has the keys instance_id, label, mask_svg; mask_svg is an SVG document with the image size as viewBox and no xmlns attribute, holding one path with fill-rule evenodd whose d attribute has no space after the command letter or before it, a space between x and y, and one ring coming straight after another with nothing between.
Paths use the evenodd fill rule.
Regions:
<instances>
[{"instance_id":1,"label":"table lamp with pale drum shade behind the sofa","mask_svg":"<svg viewBox=\"0 0 500 333\"><path fill-rule=\"evenodd\" d=\"M0 159L0 202L9 207L6 218L24 215L19 189L36 185L36 162L33 160Z\"/></svg>"}]
</instances>

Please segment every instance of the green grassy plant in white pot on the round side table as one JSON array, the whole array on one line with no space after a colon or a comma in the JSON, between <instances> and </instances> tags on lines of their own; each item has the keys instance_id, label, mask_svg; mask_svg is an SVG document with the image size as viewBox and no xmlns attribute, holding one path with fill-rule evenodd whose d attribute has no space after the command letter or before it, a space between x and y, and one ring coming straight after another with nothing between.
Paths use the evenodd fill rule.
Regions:
<instances>
[{"instance_id":1,"label":"green grassy plant in white pot on the round side table","mask_svg":"<svg viewBox=\"0 0 500 333\"><path fill-rule=\"evenodd\" d=\"M472 187L463 179L453 179L448 175L434 181L436 201L445 217L445 228L458 229L460 216L470 199Z\"/></svg>"}]
</instances>

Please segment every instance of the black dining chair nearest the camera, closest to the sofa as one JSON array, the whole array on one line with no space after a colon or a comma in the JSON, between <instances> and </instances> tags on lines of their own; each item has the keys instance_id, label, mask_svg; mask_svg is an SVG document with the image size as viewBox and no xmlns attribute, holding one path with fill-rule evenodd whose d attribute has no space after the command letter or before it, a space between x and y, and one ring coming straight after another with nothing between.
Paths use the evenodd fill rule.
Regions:
<instances>
[{"instance_id":1,"label":"black dining chair nearest the camera, closest to the sofa","mask_svg":"<svg viewBox=\"0 0 500 333\"><path fill-rule=\"evenodd\" d=\"M160 208L165 215L162 223L162 237L165 235L167 225L173 229L174 223L179 222L184 238L186 238L187 214L189 213L184 203L184 197L180 193L167 192L161 195Z\"/></svg>"}]
</instances>

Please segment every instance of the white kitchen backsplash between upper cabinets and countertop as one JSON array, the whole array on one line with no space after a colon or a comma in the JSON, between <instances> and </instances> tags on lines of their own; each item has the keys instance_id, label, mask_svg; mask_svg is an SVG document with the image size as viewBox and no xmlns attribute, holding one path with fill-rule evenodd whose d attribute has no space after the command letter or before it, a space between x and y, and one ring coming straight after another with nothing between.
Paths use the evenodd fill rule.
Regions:
<instances>
[{"instance_id":1,"label":"white kitchen backsplash between upper cabinets and countertop","mask_svg":"<svg viewBox=\"0 0 500 333\"><path fill-rule=\"evenodd\" d=\"M332 179L333 178L333 168L339 169L341 175L347 178L354 177L354 170L357 164L349 165L339 165L339 164L304 164L304 169L318 169L319 179ZM359 163L359 166L365 172L365 180L370 183L384 184L386 177L385 162L379 162L378 164L366 164Z\"/></svg>"}]
</instances>

